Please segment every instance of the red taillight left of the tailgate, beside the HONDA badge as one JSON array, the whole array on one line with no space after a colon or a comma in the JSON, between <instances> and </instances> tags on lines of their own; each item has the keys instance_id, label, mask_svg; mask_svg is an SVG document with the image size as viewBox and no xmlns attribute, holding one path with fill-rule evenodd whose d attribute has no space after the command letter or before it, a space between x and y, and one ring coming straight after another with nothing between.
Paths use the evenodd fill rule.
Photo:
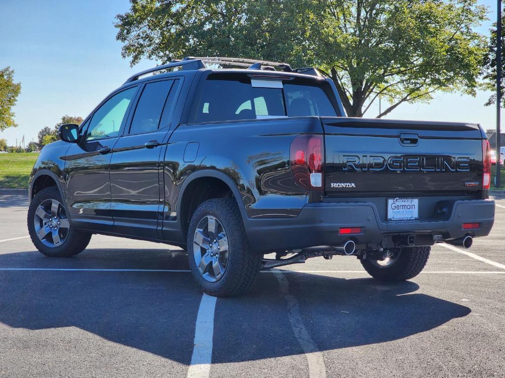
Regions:
<instances>
[{"instance_id":1,"label":"red taillight left of the tailgate, beside the HONDA badge","mask_svg":"<svg viewBox=\"0 0 505 378\"><path fill-rule=\"evenodd\" d=\"M291 171L297 185L310 190L323 189L324 142L322 135L304 134L291 142Z\"/></svg>"}]
</instances>

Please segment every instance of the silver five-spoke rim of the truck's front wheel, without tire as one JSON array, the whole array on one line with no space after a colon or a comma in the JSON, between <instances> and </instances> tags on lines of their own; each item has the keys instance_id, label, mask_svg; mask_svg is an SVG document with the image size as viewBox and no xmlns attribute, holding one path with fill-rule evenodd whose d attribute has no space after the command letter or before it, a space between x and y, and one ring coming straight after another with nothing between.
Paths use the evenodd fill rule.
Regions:
<instances>
[{"instance_id":1,"label":"silver five-spoke rim of the truck's front wheel, without tire","mask_svg":"<svg viewBox=\"0 0 505 378\"><path fill-rule=\"evenodd\" d=\"M70 231L65 208L54 199L44 200L38 205L33 224L38 239L51 248L62 245Z\"/></svg>"}]
</instances>

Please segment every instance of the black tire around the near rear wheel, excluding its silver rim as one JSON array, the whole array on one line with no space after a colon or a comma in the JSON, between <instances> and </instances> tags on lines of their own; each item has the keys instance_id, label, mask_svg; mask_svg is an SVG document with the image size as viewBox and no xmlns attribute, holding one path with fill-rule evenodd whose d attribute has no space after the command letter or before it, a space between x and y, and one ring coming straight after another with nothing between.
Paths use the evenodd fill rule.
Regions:
<instances>
[{"instance_id":1,"label":"black tire around the near rear wheel, excluding its silver rim","mask_svg":"<svg viewBox=\"0 0 505 378\"><path fill-rule=\"evenodd\" d=\"M228 245L226 269L215 282L204 278L195 261L195 254L201 249L194 241L196 228L209 216L222 225ZM198 206L189 223L187 251L193 277L205 293L217 297L236 296L249 290L258 277L263 259L263 255L250 250L240 210L231 198L212 199Z\"/></svg>"}]
</instances>

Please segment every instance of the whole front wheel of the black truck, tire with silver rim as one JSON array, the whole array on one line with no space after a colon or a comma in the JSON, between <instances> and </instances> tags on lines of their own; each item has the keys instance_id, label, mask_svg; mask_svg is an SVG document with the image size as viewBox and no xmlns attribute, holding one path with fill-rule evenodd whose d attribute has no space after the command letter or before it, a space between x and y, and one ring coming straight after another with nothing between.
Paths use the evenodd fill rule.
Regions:
<instances>
[{"instance_id":1,"label":"whole front wheel of the black truck, tire with silver rim","mask_svg":"<svg viewBox=\"0 0 505 378\"><path fill-rule=\"evenodd\" d=\"M91 234L72 227L57 187L37 193L28 208L28 233L37 249L49 257L80 254Z\"/></svg>"}]
</instances>

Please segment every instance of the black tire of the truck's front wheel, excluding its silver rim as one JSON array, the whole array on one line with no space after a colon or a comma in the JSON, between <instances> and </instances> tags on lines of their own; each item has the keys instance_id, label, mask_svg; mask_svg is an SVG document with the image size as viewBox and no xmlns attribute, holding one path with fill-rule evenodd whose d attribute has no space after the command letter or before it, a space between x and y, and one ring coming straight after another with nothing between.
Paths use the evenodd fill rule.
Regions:
<instances>
[{"instance_id":1,"label":"black tire of the truck's front wheel, excluding its silver rim","mask_svg":"<svg viewBox=\"0 0 505 378\"><path fill-rule=\"evenodd\" d=\"M42 240L37 236L37 230L35 229L35 223L38 221L35 215L36 211L39 205L44 203L44 201L47 202L48 200L56 200L62 204L62 207L60 208L60 215L62 218L66 217L69 222L68 231L66 231L65 238L62 239L60 245L48 246L44 244L44 242L42 242ZM74 229L67 217L67 214L68 213L63 205L60 191L56 186L47 187L41 190L30 202L27 219L28 233L30 234L33 244L41 254L48 257L71 257L80 254L88 245L89 240L91 239L91 234Z\"/></svg>"}]
</instances>

